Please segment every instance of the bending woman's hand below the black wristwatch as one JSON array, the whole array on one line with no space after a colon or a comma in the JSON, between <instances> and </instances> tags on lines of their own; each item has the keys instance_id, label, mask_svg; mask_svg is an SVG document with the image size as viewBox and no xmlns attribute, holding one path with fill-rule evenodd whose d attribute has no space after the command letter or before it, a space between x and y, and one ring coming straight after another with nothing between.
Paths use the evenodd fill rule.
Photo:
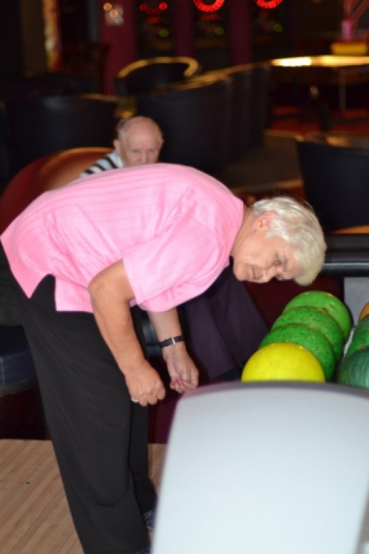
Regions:
<instances>
[{"instance_id":1,"label":"bending woman's hand below the black wristwatch","mask_svg":"<svg viewBox=\"0 0 369 554\"><path fill-rule=\"evenodd\" d=\"M163 348L163 358L170 375L170 388L184 393L199 384L199 371L188 355L184 343L171 344Z\"/></svg>"}]
</instances>

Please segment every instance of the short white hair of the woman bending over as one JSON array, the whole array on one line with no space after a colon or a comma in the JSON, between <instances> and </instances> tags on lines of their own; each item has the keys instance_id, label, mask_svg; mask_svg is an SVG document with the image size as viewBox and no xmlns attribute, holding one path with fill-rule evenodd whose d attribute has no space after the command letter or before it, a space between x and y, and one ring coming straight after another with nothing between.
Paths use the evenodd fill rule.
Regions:
<instances>
[{"instance_id":1,"label":"short white hair of the woman bending over","mask_svg":"<svg viewBox=\"0 0 369 554\"><path fill-rule=\"evenodd\" d=\"M294 278L299 285L309 285L323 266L325 238L316 215L307 202L287 196L258 200L252 205L258 216L265 212L276 212L271 220L267 237L279 237L294 249L294 258L301 268Z\"/></svg>"}]
</instances>

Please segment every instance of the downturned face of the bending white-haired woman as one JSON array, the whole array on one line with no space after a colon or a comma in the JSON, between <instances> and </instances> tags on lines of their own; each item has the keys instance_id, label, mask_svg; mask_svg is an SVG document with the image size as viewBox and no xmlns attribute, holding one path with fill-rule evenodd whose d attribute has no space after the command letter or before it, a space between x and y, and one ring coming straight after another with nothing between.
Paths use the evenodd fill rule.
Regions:
<instances>
[{"instance_id":1,"label":"downturned face of the bending white-haired woman","mask_svg":"<svg viewBox=\"0 0 369 554\"><path fill-rule=\"evenodd\" d=\"M267 283L274 277L288 280L300 272L294 249L279 237L267 238L269 226L258 227L233 253L233 273L238 280Z\"/></svg>"}]
</instances>

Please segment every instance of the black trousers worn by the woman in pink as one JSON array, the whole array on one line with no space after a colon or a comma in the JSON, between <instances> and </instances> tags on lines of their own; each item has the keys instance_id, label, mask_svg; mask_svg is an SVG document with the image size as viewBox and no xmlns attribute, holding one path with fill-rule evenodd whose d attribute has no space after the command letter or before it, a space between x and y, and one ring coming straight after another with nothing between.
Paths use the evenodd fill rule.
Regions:
<instances>
[{"instance_id":1,"label":"black trousers worn by the woman in pink","mask_svg":"<svg viewBox=\"0 0 369 554\"><path fill-rule=\"evenodd\" d=\"M56 312L47 276L28 299L15 284L66 497L86 554L147 545L147 408L132 403L92 314Z\"/></svg>"}]
</instances>

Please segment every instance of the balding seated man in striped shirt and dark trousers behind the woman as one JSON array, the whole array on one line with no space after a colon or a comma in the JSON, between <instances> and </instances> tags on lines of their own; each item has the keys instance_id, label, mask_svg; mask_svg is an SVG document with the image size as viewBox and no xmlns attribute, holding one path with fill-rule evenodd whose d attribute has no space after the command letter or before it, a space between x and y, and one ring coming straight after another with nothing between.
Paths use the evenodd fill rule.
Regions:
<instances>
[{"instance_id":1,"label":"balding seated man in striped shirt and dark trousers behind the woman","mask_svg":"<svg viewBox=\"0 0 369 554\"><path fill-rule=\"evenodd\" d=\"M154 120L143 116L120 120L116 130L114 151L93 163L80 177L159 161L164 141ZM134 307L132 316L148 357L143 344L143 312ZM205 383L215 379L239 379L246 360L268 332L244 283L235 278L231 265L204 294L179 306L179 317L186 346L200 370L201 382Z\"/></svg>"}]
</instances>

